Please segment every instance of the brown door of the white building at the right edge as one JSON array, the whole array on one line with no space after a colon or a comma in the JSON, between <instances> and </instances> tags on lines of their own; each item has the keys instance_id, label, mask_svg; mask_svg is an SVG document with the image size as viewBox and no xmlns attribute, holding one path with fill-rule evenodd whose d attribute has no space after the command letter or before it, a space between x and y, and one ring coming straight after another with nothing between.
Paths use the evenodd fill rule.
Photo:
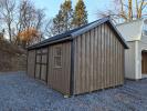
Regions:
<instances>
[{"instance_id":1,"label":"brown door of the white building at the right edge","mask_svg":"<svg viewBox=\"0 0 147 111\"><path fill-rule=\"evenodd\" d=\"M147 74L147 52L141 53L141 73Z\"/></svg>"}]
</instances>

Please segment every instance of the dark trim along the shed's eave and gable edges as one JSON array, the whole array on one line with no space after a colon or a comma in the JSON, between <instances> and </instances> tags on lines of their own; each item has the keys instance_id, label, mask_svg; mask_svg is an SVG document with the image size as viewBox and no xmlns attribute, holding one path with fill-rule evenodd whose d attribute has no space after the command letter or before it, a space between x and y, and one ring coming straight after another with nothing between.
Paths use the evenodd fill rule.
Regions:
<instances>
[{"instance_id":1,"label":"dark trim along the shed's eave and gable edges","mask_svg":"<svg viewBox=\"0 0 147 111\"><path fill-rule=\"evenodd\" d=\"M101 22L99 22L101 21ZM109 23L111 27L114 29L115 33L117 34L116 37L119 39L119 41L123 43L123 46L125 47L125 49L128 49L128 46L126 43L126 41L124 40L124 38L122 37L122 34L119 33L119 31L117 30L117 28L114 26L114 23L112 22L112 20L109 18L103 18L101 20L96 20L92 23L88 23L90 26L85 26L83 28L81 28L80 30L76 30L74 32L71 32L70 34L59 34L62 36L62 38L56 38L55 40L44 40L40 43L33 44L31 47L28 48L28 50L32 50L32 49L39 49L41 47L45 47L45 46L50 46L50 44L54 44L54 43L59 43L59 42L64 42L66 40L73 40L74 38L76 38L80 34L83 34L84 32L87 32L88 30L96 28L97 26L102 24L102 23ZM56 37L56 36L55 36ZM54 38L54 37L52 37Z\"/></svg>"}]
</instances>

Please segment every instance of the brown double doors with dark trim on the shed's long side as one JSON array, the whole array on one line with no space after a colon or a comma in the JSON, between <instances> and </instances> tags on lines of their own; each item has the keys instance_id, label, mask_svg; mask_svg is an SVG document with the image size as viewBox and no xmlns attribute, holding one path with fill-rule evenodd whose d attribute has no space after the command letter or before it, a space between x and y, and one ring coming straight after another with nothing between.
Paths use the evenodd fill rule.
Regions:
<instances>
[{"instance_id":1,"label":"brown double doors with dark trim on the shed's long side","mask_svg":"<svg viewBox=\"0 0 147 111\"><path fill-rule=\"evenodd\" d=\"M36 51L35 78L46 81L48 48Z\"/></svg>"}]
</instances>

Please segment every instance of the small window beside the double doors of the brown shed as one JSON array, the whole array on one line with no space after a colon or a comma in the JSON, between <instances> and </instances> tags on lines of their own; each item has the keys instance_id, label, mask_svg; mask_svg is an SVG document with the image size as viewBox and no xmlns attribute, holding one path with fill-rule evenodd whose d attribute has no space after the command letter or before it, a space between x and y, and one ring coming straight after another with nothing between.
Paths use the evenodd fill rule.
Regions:
<instances>
[{"instance_id":1,"label":"small window beside the double doors of the brown shed","mask_svg":"<svg viewBox=\"0 0 147 111\"><path fill-rule=\"evenodd\" d=\"M54 68L61 68L62 65L62 48L54 48Z\"/></svg>"}]
</instances>

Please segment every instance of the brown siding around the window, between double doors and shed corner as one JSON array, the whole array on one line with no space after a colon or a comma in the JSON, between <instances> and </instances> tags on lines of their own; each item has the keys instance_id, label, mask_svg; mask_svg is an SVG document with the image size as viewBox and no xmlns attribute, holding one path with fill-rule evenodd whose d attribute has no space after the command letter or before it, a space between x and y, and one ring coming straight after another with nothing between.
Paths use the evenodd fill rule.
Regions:
<instances>
[{"instance_id":1,"label":"brown siding around the window, between double doors and shed corner","mask_svg":"<svg viewBox=\"0 0 147 111\"><path fill-rule=\"evenodd\" d=\"M56 48L61 48L61 67L55 67L54 51ZM71 42L57 43L49 47L48 70L48 84L63 94L70 94Z\"/></svg>"}]
</instances>

